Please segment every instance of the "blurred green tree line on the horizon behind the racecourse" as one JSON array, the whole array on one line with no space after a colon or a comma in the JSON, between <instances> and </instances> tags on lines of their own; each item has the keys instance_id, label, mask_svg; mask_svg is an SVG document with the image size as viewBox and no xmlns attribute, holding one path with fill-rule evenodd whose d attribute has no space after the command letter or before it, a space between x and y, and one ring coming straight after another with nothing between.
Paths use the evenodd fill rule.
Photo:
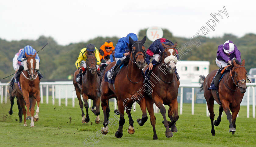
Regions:
<instances>
[{"instance_id":1,"label":"blurred green tree line on the horizon behind the racecourse","mask_svg":"<svg viewBox=\"0 0 256 147\"><path fill-rule=\"evenodd\" d=\"M141 29L137 36L142 39L146 36L147 29ZM176 37L168 29L163 29L163 38L166 38L173 43L177 42L177 48L184 48L185 43L190 43L190 38ZM111 40L114 44L118 42L119 37L101 37L98 36L87 42L70 43L69 45L59 45L54 38L40 36L37 40L23 39L20 41L6 41L0 38L0 78L1 82L9 82L11 77L4 80L2 78L7 77L15 72L12 67L12 59L19 49L24 48L27 45L32 46L35 50L39 51L45 44L48 43L38 55L40 57L39 70L43 74L42 81L55 81L55 80L67 80L67 77L73 74L76 70L75 62L79 56L81 49L87 46L88 43L93 43L97 49L105 43L106 40ZM254 58L256 56L256 35L248 33L240 38L233 34L224 34L222 37L202 37L199 39L200 46L192 45L192 50L187 52L187 55L182 55L182 60L202 60L210 62L210 71L218 69L215 63L216 53L218 46L231 40L237 46L241 52L241 59L246 60L246 70L249 72L250 68L256 67ZM152 41L146 40L144 46L146 49L151 45ZM184 50L185 51L185 50Z\"/></svg>"}]
</instances>

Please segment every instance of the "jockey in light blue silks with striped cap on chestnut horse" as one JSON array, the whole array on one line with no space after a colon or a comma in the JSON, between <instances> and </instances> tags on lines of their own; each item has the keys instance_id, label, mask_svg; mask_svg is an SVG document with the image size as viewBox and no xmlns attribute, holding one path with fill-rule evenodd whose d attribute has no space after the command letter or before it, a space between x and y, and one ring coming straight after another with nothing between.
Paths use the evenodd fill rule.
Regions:
<instances>
[{"instance_id":1,"label":"jockey in light blue silks with striped cap on chestnut horse","mask_svg":"<svg viewBox=\"0 0 256 147\"><path fill-rule=\"evenodd\" d=\"M20 54L19 54L17 60L21 62L22 66L20 66L19 70L15 73L15 77L18 74L20 74L22 72L22 70L24 69L24 60L26 59L25 53L27 53L27 55L34 55L35 53L37 53L37 51L35 49L33 49L32 46L25 46L24 49L20 51ZM43 76L41 75L41 73L38 70L39 62L40 62L38 54L36 55L35 59L36 59L36 71L39 76L39 79L41 79Z\"/></svg>"}]
</instances>

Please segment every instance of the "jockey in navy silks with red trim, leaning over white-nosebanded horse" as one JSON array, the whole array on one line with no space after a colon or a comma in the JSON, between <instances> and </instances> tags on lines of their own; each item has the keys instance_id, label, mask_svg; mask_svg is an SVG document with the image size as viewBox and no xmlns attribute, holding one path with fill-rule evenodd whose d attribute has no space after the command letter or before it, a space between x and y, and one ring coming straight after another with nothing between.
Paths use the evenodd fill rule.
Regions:
<instances>
[{"instance_id":1,"label":"jockey in navy silks with red trim, leaning over white-nosebanded horse","mask_svg":"<svg viewBox=\"0 0 256 147\"><path fill-rule=\"evenodd\" d=\"M162 52L165 50L164 47L162 46L162 43L164 43L165 45L169 45L172 46L174 45L170 40L165 39L165 38L159 38L156 39L148 48L147 52L146 52L146 57L145 57L145 62L148 64L148 67L150 70L152 70L153 68L153 64L159 62L159 56L160 54L162 54ZM176 50L176 49L175 49ZM178 56L178 52L176 50L176 57L179 60L179 56ZM150 59L153 57L153 61L150 62ZM177 73L177 69L175 69L175 74L177 77L177 80L180 79L179 74Z\"/></svg>"}]
</instances>

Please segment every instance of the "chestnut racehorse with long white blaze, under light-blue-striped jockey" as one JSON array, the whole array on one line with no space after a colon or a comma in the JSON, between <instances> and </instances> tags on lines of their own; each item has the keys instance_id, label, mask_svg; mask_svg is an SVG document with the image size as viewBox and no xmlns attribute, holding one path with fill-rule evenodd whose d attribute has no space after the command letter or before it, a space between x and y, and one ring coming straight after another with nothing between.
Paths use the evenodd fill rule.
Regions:
<instances>
[{"instance_id":1,"label":"chestnut racehorse with long white blaze, under light-blue-striped jockey","mask_svg":"<svg viewBox=\"0 0 256 147\"><path fill-rule=\"evenodd\" d=\"M34 55L26 55L24 63L24 70L22 71L19 79L19 84L21 87L21 90L19 88L19 84L15 83L15 91L16 91L16 97L20 100L20 104L22 107L23 111L23 116L24 116L24 127L27 126L27 121L26 119L31 119L30 127L34 127L34 121L38 121L39 117L39 103L41 101L40 97L40 90L39 90L39 77L36 72L36 54ZM24 97L24 98L23 98ZM30 101L29 98L31 98L31 110L29 110L30 107ZM35 105L37 102L37 110L36 110L36 115L34 116L35 112ZM25 103L27 110L25 108ZM26 117L27 113L27 117ZM31 113L31 116L30 116Z\"/></svg>"}]
</instances>

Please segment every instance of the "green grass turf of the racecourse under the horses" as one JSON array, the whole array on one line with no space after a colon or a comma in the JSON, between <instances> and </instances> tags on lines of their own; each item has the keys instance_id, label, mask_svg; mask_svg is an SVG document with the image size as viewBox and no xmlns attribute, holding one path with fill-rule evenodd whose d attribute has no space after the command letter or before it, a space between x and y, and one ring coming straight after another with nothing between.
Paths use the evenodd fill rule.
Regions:
<instances>
[{"instance_id":1,"label":"green grass turf of the racecourse under the horses","mask_svg":"<svg viewBox=\"0 0 256 147\"><path fill-rule=\"evenodd\" d=\"M234 135L228 132L229 122L226 114L222 116L222 122L215 126L215 136L211 134L211 123L206 116L206 104L195 104L194 115L191 115L191 104L183 104L183 114L176 122L178 132L173 133L172 138L165 137L165 127L162 124L161 113L155 114L156 133L158 140L153 140L153 129L148 121L144 126L139 126L137 118L141 118L142 112L136 104L136 112L132 111L135 133L130 135L127 132L129 121L125 113L125 124L123 127L123 137L116 138L116 126L109 126L109 132L103 138L99 139L96 132L103 127L103 113L101 110L100 124L95 124L96 116L89 111L90 122L82 124L81 111L78 100L75 99L75 107L72 107L71 99L68 100L68 107L65 106L65 100L62 99L62 105L40 104L39 121L35 122L35 127L30 128L30 120L27 120L28 127L23 127L24 121L19 123L18 109L15 102L13 114L9 115L10 102L0 104L0 146L255 146L256 129L255 118L246 118L246 107L241 106L239 117L236 119L236 132ZM114 117L114 104L110 104L110 118ZM167 109L167 106L165 106ZM215 105L215 119L218 115L219 105ZM168 109L167 109L168 110ZM166 110L166 111L167 111ZM252 110L252 107L250 111ZM85 111L85 110L84 110ZM180 112L180 107L179 111ZM252 111L251 111L252 112ZM17 119L17 120L16 120ZM169 118L168 118L169 120ZM94 135L96 142L93 142L90 136ZM101 136L100 136L101 137Z\"/></svg>"}]
</instances>

